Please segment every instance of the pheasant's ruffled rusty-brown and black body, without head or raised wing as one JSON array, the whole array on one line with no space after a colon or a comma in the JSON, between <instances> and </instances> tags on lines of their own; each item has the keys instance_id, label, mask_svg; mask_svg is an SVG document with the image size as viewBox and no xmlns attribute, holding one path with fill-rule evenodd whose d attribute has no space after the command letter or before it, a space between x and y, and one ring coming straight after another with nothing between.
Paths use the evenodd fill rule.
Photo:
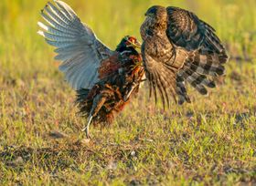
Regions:
<instances>
[{"instance_id":1,"label":"pheasant's ruffled rusty-brown and black body, without head or raised wing","mask_svg":"<svg viewBox=\"0 0 256 186\"><path fill-rule=\"evenodd\" d=\"M123 49L102 61L99 67L100 82L91 89L77 91L77 103L83 116L88 117L91 108L95 108L92 113L94 124L112 123L114 116L139 90L144 77L144 69L138 65L142 58L132 48ZM125 100L130 91L131 97Z\"/></svg>"}]
</instances>

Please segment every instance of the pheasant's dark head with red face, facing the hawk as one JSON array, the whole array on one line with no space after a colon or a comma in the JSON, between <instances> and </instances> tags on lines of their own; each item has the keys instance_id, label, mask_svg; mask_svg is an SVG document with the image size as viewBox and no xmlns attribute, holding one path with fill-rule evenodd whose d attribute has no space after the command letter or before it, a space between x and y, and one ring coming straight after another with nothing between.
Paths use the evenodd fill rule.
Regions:
<instances>
[{"instance_id":1,"label":"pheasant's dark head with red face, facing the hawk","mask_svg":"<svg viewBox=\"0 0 256 186\"><path fill-rule=\"evenodd\" d=\"M116 50L123 52L127 49L136 49L141 47L141 43L134 36L124 36Z\"/></svg>"}]
</instances>

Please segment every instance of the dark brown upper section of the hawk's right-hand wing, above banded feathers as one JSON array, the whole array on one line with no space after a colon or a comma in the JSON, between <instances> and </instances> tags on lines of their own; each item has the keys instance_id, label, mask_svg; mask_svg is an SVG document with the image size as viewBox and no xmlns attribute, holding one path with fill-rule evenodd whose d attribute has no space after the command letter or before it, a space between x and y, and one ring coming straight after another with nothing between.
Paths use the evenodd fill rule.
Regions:
<instances>
[{"instance_id":1,"label":"dark brown upper section of the hawk's right-hand wing, above banded feathers","mask_svg":"<svg viewBox=\"0 0 256 186\"><path fill-rule=\"evenodd\" d=\"M169 6L166 34L178 47L196 50L200 47L221 53L224 50L215 29L187 10Z\"/></svg>"}]
</instances>

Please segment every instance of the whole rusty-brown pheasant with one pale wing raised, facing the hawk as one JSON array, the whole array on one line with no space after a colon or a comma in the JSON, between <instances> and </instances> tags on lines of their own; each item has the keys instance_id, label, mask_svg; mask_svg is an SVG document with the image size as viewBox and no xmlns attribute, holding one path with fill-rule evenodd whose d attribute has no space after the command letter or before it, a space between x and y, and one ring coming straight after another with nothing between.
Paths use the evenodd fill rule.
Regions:
<instances>
[{"instance_id":1,"label":"whole rusty-brown pheasant with one pale wing raised, facing the hawk","mask_svg":"<svg viewBox=\"0 0 256 186\"><path fill-rule=\"evenodd\" d=\"M88 117L83 130L89 138L89 126L111 123L133 94L138 92L144 77L142 57L135 50L140 43L133 36L124 36L115 51L104 46L89 26L82 24L75 12L62 1L54 1L41 11L48 23L38 22L46 42L59 53L59 69L70 86L77 91L80 113Z\"/></svg>"}]
</instances>

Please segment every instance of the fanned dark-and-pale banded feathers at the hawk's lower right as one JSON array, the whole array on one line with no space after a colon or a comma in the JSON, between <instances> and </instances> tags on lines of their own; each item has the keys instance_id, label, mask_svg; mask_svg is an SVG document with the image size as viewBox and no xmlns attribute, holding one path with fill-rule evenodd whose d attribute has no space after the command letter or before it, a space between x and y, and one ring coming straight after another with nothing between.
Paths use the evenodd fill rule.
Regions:
<instances>
[{"instance_id":1,"label":"fanned dark-and-pale banded feathers at the hawk's lower right","mask_svg":"<svg viewBox=\"0 0 256 186\"><path fill-rule=\"evenodd\" d=\"M202 52L200 49L189 52L188 56L184 66L176 74L176 93L179 104L185 101L190 102L185 87L186 81L202 95L208 94L207 88L215 88L213 79L225 73L223 63L228 59L224 51L216 54L207 50ZM183 91L180 90L181 88Z\"/></svg>"}]
</instances>

